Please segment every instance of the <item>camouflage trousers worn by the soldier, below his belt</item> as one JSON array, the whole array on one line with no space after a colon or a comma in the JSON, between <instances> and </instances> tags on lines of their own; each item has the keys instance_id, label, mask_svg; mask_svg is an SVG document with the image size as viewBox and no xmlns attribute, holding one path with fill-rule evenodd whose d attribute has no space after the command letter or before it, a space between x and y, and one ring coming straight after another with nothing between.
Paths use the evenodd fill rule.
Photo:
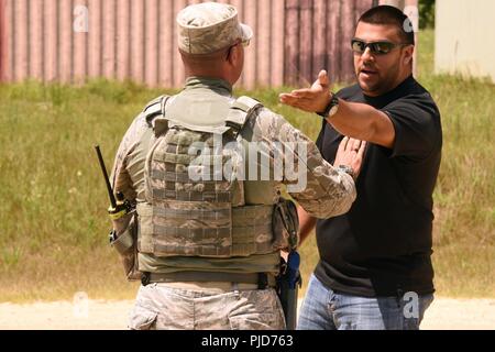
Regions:
<instances>
[{"instance_id":1,"label":"camouflage trousers worn by the soldier, below his belt","mask_svg":"<svg viewBox=\"0 0 495 352\"><path fill-rule=\"evenodd\" d=\"M231 283L150 284L141 286L138 293L130 314L129 328L283 330L285 319L280 301L273 288L243 289L242 286Z\"/></svg>"}]
</instances>

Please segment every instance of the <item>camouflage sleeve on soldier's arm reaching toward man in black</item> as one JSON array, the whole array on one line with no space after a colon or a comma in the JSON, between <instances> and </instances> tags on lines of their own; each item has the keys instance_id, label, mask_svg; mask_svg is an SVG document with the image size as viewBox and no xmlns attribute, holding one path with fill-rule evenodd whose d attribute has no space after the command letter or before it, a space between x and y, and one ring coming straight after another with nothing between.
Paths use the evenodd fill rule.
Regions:
<instances>
[{"instance_id":1,"label":"camouflage sleeve on soldier's arm reaching toward man in black","mask_svg":"<svg viewBox=\"0 0 495 352\"><path fill-rule=\"evenodd\" d=\"M253 135L275 145L275 175L283 167L282 183L310 216L326 219L349 211L356 197L354 180L324 161L309 138L265 108L252 123Z\"/></svg>"}]
</instances>

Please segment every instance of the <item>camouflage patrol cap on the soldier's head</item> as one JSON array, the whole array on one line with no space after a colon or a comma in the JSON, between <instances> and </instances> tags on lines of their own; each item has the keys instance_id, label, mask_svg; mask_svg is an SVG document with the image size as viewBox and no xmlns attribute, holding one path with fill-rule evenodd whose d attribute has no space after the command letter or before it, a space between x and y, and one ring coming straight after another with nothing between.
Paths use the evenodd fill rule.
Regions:
<instances>
[{"instance_id":1,"label":"camouflage patrol cap on the soldier's head","mask_svg":"<svg viewBox=\"0 0 495 352\"><path fill-rule=\"evenodd\" d=\"M177 14L178 46L187 54L209 54L235 41L248 42L253 31L240 23L238 10L227 3L191 4Z\"/></svg>"}]
</instances>

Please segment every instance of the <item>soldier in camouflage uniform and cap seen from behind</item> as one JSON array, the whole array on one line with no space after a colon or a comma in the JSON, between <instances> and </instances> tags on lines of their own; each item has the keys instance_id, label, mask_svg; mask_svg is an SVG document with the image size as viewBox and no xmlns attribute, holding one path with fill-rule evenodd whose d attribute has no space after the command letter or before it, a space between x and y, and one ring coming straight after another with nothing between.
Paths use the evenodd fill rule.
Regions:
<instances>
[{"instance_id":1,"label":"soldier in camouflage uniform and cap seen from behind","mask_svg":"<svg viewBox=\"0 0 495 352\"><path fill-rule=\"evenodd\" d=\"M177 24L189 77L186 87L177 96L152 101L134 120L111 177L114 191L136 205L136 215L113 221L113 245L128 277L139 274L143 283L130 328L284 329L273 287L279 251L290 248L290 239L279 229L274 209L284 205L283 185L294 186L298 179L243 179L239 158L232 156L239 156L240 148L219 152L213 142L220 140L224 146L230 141L246 150L254 144L270 175L276 174L277 153L290 154L285 161L294 163L306 185L288 188L289 194L318 218L349 210L355 199L352 173L323 161L316 145L283 117L248 97L232 97L244 46L253 35L238 22L234 7L190 6L178 14ZM194 148L198 142L208 150L199 153L201 163L197 152L204 150ZM282 144L292 148L270 148ZM338 160L356 174L362 153L351 153L352 145L345 141ZM255 162L252 154L248 158L240 160L256 170L263 166L257 156ZM211 160L220 166L232 164L237 177L193 179L195 170L211 169Z\"/></svg>"}]
</instances>

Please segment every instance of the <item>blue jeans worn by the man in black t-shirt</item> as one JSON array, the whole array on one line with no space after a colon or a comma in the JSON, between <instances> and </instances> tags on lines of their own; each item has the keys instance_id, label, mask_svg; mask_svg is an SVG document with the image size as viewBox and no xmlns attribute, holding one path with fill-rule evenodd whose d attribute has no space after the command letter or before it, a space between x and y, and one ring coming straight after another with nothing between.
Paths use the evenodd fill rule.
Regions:
<instances>
[{"instance_id":1,"label":"blue jeans worn by the man in black t-shirt","mask_svg":"<svg viewBox=\"0 0 495 352\"><path fill-rule=\"evenodd\" d=\"M418 330L433 295L359 297L338 294L311 275L298 330Z\"/></svg>"}]
</instances>

